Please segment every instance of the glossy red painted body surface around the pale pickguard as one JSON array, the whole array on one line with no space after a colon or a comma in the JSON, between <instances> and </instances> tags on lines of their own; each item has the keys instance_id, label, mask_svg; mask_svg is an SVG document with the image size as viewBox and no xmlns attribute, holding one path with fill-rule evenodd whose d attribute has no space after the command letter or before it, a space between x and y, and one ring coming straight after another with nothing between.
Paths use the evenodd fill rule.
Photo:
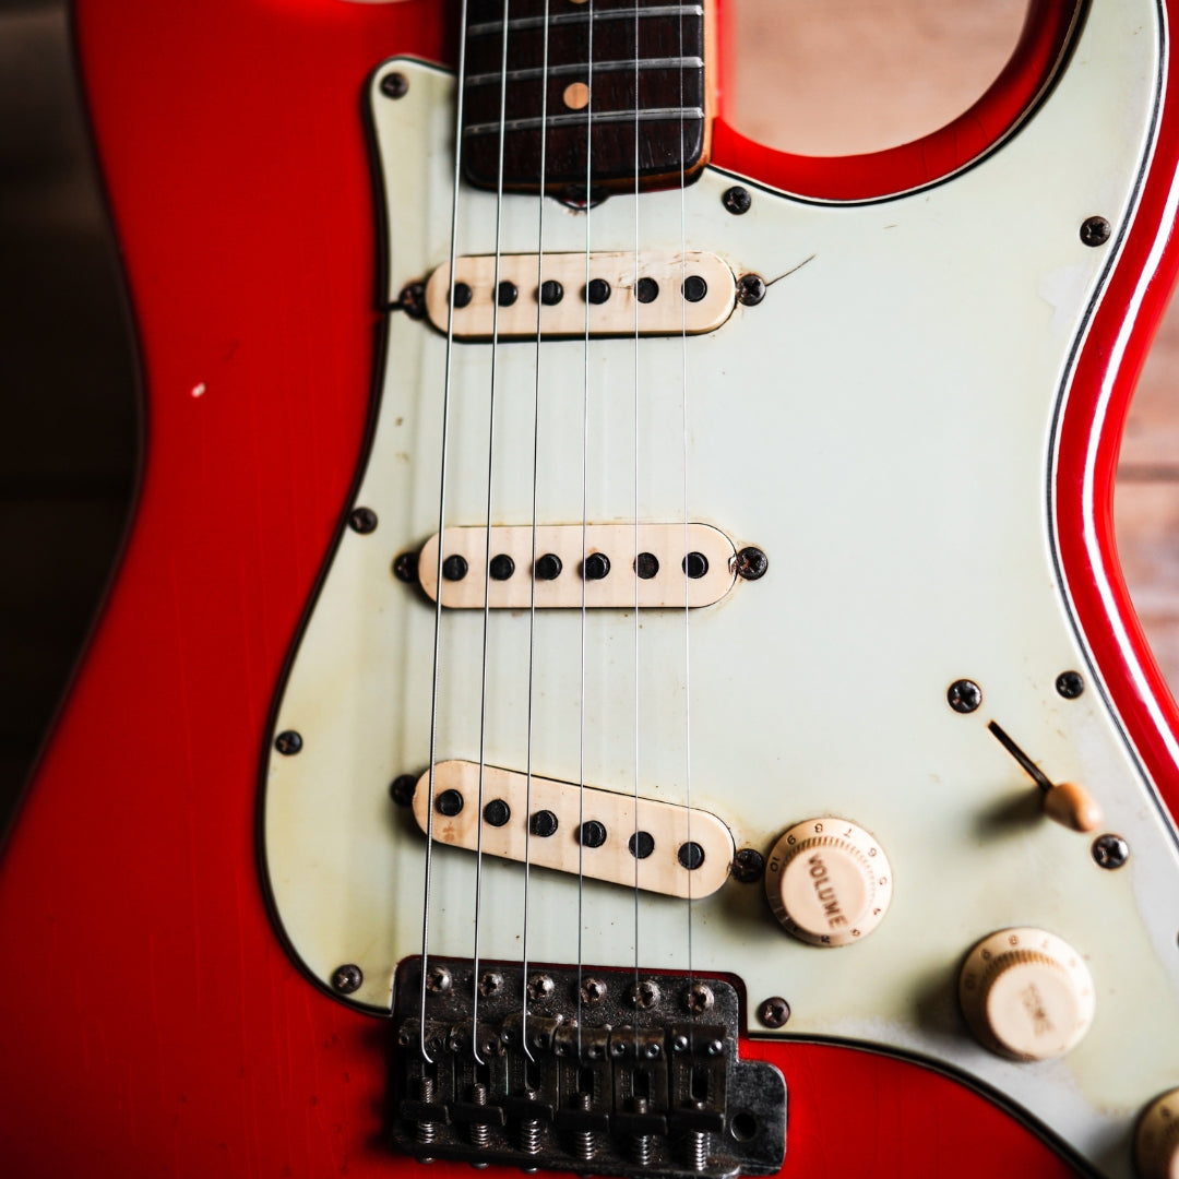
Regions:
<instances>
[{"instance_id":1,"label":"glossy red painted body surface around the pale pickguard","mask_svg":"<svg viewBox=\"0 0 1179 1179\"><path fill-rule=\"evenodd\" d=\"M364 85L395 53L449 60L444 7L77 2L138 329L144 467L118 581L0 867L7 1174L417 1168L383 1145L388 1025L323 995L288 957L263 900L255 819L271 700L349 502L374 384ZM743 139L722 105L716 163L814 196L923 183L967 163L1027 106L1071 12L1034 6L1016 59L975 111L976 134L955 124L891 153L801 160ZM1112 386L1088 499L1080 493L1112 342L1158 252L1179 164L1173 59L1170 70L1171 121L1080 358L1056 490L1086 634L1174 811L1179 771L1161 733L1179 717L1117 574L1109 513L1121 419L1179 264L1170 244ZM1081 539L1086 511L1096 547ZM1128 653L1100 568L1114 578ZM1161 725L1134 660L1148 668ZM830 1046L755 1041L743 1052L786 1076L785 1179L1071 1173L997 1106L914 1065ZM437 1164L432 1174L469 1171Z\"/></svg>"}]
</instances>

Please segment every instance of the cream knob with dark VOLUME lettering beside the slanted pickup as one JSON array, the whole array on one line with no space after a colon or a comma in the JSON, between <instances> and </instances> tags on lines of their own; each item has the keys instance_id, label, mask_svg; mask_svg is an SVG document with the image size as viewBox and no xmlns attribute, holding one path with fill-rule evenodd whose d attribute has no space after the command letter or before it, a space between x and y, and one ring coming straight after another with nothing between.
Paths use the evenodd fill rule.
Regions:
<instances>
[{"instance_id":1,"label":"cream knob with dark VOLUME lettering beside the slanted pickup","mask_svg":"<svg viewBox=\"0 0 1179 1179\"><path fill-rule=\"evenodd\" d=\"M842 818L796 823L773 845L765 895L783 928L811 946L848 946L870 934L893 900L884 849Z\"/></svg>"}]
</instances>

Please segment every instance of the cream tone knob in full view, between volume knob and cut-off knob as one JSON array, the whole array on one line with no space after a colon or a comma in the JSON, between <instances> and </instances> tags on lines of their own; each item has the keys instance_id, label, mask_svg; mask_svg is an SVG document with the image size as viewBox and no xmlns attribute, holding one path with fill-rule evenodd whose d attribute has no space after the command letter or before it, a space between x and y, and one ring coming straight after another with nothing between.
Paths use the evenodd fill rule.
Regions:
<instances>
[{"instance_id":1,"label":"cream tone knob in full view, between volume knob and cut-off knob","mask_svg":"<svg viewBox=\"0 0 1179 1179\"><path fill-rule=\"evenodd\" d=\"M1000 1056L1050 1060L1093 1022L1093 979L1068 942L1042 929L1001 929L973 950L959 1000L975 1039Z\"/></svg>"}]
</instances>

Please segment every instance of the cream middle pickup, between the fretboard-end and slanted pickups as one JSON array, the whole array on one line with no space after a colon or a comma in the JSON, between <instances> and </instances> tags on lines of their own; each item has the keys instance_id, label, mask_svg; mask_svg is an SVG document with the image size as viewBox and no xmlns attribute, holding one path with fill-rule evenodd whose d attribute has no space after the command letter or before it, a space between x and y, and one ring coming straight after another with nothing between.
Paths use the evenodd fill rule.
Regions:
<instances>
[{"instance_id":1,"label":"cream middle pickup, between the fretboard-end and slanted pickups","mask_svg":"<svg viewBox=\"0 0 1179 1179\"><path fill-rule=\"evenodd\" d=\"M711 525L579 523L447 528L442 605L493 610L711 606L732 588L732 541ZM534 555L535 554L535 555ZM422 588L437 600L439 539L417 558Z\"/></svg>"}]
</instances>

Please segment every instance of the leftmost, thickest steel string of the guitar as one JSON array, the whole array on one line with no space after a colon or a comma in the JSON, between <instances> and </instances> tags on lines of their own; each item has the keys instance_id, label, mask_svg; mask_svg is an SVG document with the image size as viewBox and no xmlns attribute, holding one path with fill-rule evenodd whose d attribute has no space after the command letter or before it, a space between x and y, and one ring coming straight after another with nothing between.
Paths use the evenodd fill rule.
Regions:
<instances>
[{"instance_id":1,"label":"leftmost, thickest steel string of the guitar","mask_svg":"<svg viewBox=\"0 0 1179 1179\"><path fill-rule=\"evenodd\" d=\"M467 0L460 0L459 21L462 33L459 37L459 81L455 92L455 132L454 132L454 189L450 195L450 294L447 301L446 325L446 365L442 380L442 455L439 466L439 551L434 569L434 654L430 680L430 763L427 775L426 808L426 863L422 876L422 955L421 955L421 995L419 1005L420 1028L419 1047L426 1063L434 1063L426 1047L426 981L429 975L429 934L430 934L430 889L434 872L434 788L437 768L439 742L439 667L442 645L442 529L446 525L446 475L447 450L450 440L450 383L454 364L454 266L456 243L459 239L459 183L462 166L462 112L463 86L467 78Z\"/></svg>"}]
</instances>

